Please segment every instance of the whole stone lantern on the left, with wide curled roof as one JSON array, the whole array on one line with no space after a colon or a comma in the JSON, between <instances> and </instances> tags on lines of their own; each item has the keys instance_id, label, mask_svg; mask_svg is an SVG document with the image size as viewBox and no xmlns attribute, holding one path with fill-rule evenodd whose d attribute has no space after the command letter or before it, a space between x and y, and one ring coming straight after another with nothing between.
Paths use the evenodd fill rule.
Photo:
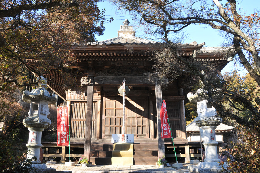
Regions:
<instances>
[{"instance_id":1,"label":"whole stone lantern on the left, with wide curled roof","mask_svg":"<svg viewBox=\"0 0 260 173\"><path fill-rule=\"evenodd\" d=\"M49 106L50 104L55 104L58 96L54 94L52 97L46 90L47 80L41 76L41 86L33 89L31 93L29 91L24 91L22 95L22 100L30 103L30 110L28 112L29 116L23 120L25 127L28 127L29 140L26 146L28 147L27 158L37 157L37 161L32 161L32 167L35 168L46 168L44 164L39 160L41 144L41 134L44 129L50 126L52 123L47 116L50 114Z\"/></svg>"}]
</instances>

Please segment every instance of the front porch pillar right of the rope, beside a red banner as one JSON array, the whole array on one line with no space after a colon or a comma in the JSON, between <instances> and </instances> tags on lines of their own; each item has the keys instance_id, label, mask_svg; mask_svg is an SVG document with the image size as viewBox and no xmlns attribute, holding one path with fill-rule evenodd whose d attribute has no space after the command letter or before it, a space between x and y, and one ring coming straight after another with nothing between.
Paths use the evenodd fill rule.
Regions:
<instances>
[{"instance_id":1,"label":"front porch pillar right of the rope, beside a red banner","mask_svg":"<svg viewBox=\"0 0 260 173\"><path fill-rule=\"evenodd\" d=\"M162 139L162 127L160 110L162 107L162 89L160 85L155 84L157 127L158 127L158 158L164 155L164 139Z\"/></svg>"}]
</instances>

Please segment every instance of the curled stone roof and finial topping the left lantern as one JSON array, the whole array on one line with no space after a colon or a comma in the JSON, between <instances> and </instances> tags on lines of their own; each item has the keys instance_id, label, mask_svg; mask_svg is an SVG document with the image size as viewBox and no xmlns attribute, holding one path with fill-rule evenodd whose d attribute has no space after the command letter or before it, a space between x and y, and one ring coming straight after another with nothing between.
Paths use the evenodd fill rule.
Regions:
<instances>
[{"instance_id":1,"label":"curled stone roof and finial topping the left lantern","mask_svg":"<svg viewBox=\"0 0 260 173\"><path fill-rule=\"evenodd\" d=\"M32 100L43 100L48 101L49 104L55 104L58 99L58 96L56 94L50 96L50 93L46 90L47 80L42 76L41 80L43 84L41 84L40 87L33 89L31 93L27 90L23 92L22 100L27 103L31 103Z\"/></svg>"}]
</instances>

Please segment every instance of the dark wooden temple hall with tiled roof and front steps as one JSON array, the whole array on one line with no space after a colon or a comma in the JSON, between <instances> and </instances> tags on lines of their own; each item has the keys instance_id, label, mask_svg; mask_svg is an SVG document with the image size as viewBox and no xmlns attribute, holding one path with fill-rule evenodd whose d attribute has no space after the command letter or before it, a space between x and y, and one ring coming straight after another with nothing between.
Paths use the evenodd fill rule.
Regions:
<instances>
[{"instance_id":1,"label":"dark wooden temple hall with tiled roof and front steps","mask_svg":"<svg viewBox=\"0 0 260 173\"><path fill-rule=\"evenodd\" d=\"M77 66L82 69L82 76L75 82L85 92L64 91L57 85L64 82L58 73L53 73L49 79L47 76L51 81L48 82L50 89L70 105L71 157L84 154L92 164L111 164L114 149L111 135L122 133L123 121L123 97L117 90L125 79L130 89L125 97L125 133L134 134L133 164L154 165L162 155L169 161L175 159L172 140L161 139L160 116L157 115L162 99L166 101L177 157L189 162L192 146L186 137L184 105L190 91L180 85L181 80L188 82L189 78L177 79L166 89L150 82L144 73L152 72L150 57L162 44L136 37L128 20L123 24L117 37L74 45L73 54L78 59ZM219 53L225 48L203 48L205 43L196 42L184 45L184 57L196 52L198 61L219 63L221 69L231 61ZM46 147L43 157L68 160L68 146L42 143ZM48 148L58 148L57 153L48 153Z\"/></svg>"}]
</instances>

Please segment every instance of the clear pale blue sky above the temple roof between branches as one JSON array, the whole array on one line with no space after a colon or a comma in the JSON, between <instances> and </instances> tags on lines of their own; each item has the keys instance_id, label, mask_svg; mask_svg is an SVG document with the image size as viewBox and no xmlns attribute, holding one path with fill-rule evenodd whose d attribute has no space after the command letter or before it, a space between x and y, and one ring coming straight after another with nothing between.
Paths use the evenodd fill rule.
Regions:
<instances>
[{"instance_id":1,"label":"clear pale blue sky above the temple roof between branches","mask_svg":"<svg viewBox=\"0 0 260 173\"><path fill-rule=\"evenodd\" d=\"M238 0L238 2L242 14L245 12L246 15L249 15L253 12L254 9L260 9L259 0ZM116 11L107 0L98 3L98 6L100 7L100 9L105 8L106 18L114 18L114 21L105 24L106 29L104 35L96 36L98 41L117 37L117 31L119 30L120 25L123 25L122 22L126 18L130 21L130 25L134 26L134 29L136 30L136 36L142 36L142 29L137 28L138 21L132 20L131 16L128 13L125 14ZM205 26L203 25L190 25L186 28L186 33L189 34L189 38L185 40L184 43L191 43L193 41L196 41L198 44L200 44L205 42L205 46L218 47L221 46L221 43L223 41L225 41L223 37L219 35L219 32L217 30L211 29L210 27L205 28ZM237 68L238 66L235 65L234 62L230 62L221 72L232 72L234 69ZM241 70L240 74L242 76L244 76L244 73L246 73L246 71L243 70L242 67L239 67L238 70Z\"/></svg>"}]
</instances>

